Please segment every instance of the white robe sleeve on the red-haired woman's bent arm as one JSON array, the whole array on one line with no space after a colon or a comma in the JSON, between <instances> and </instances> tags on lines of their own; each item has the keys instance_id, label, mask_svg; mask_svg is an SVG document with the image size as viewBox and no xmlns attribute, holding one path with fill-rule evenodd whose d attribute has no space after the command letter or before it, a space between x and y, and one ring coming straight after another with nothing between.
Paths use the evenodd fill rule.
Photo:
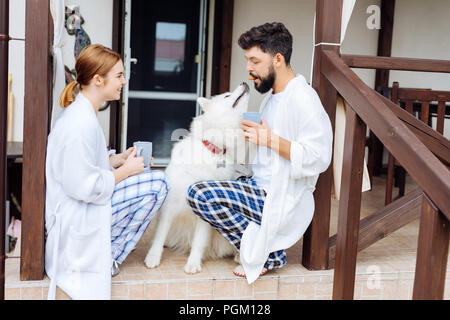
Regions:
<instances>
[{"instance_id":1,"label":"white robe sleeve on the red-haired woman's bent arm","mask_svg":"<svg viewBox=\"0 0 450 320\"><path fill-rule=\"evenodd\" d=\"M77 135L64 145L62 161L62 187L76 200L96 205L111 201L115 177L110 170L96 165L98 152L95 133L89 138Z\"/></svg>"}]
</instances>

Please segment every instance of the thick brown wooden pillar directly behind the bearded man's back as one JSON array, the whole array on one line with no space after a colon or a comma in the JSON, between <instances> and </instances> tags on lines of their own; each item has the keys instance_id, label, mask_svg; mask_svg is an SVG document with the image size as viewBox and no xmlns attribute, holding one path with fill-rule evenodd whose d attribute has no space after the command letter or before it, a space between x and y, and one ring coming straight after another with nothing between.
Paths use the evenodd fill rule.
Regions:
<instances>
[{"instance_id":1,"label":"thick brown wooden pillar directly behind the bearded man's back","mask_svg":"<svg viewBox=\"0 0 450 320\"><path fill-rule=\"evenodd\" d=\"M315 44L340 43L342 0L316 1ZM320 44L315 47L312 86L330 117L334 132L336 115L336 89L322 74L322 52L339 53L338 45ZM310 270L328 268L328 239L330 232L332 166L323 172L314 192L315 211L313 220L303 237L302 264Z\"/></svg>"}]
</instances>

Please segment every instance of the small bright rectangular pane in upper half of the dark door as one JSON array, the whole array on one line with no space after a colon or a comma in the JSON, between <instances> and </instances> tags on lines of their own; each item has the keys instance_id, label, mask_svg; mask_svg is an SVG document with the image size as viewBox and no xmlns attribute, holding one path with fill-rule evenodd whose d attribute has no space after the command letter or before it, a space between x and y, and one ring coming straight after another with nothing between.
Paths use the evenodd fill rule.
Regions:
<instances>
[{"instance_id":1,"label":"small bright rectangular pane in upper half of the dark door","mask_svg":"<svg viewBox=\"0 0 450 320\"><path fill-rule=\"evenodd\" d=\"M184 70L186 25L156 23L155 72L179 74Z\"/></svg>"}]
</instances>

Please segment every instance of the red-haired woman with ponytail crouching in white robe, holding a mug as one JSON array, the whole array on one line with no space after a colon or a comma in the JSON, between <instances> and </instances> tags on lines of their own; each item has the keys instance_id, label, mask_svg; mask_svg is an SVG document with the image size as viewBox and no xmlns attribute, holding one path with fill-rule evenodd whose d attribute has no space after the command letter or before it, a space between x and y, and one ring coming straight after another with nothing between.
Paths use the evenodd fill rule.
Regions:
<instances>
[{"instance_id":1,"label":"red-haired woman with ponytail crouching in white robe, holding a mug","mask_svg":"<svg viewBox=\"0 0 450 320\"><path fill-rule=\"evenodd\" d=\"M48 298L55 298L58 285L73 299L110 299L112 272L118 273L118 264L134 249L168 186L162 171L144 170L135 148L117 155L107 151L97 115L105 101L120 99L126 84L120 56L90 45L75 70L76 81L60 99L65 110L48 137Z\"/></svg>"}]
</instances>

